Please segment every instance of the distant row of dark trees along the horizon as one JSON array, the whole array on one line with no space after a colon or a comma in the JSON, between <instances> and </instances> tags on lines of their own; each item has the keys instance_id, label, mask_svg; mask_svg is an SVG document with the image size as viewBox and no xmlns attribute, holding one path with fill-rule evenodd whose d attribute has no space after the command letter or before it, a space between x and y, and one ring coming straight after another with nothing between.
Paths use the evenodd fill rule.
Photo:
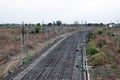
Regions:
<instances>
[{"instance_id":1,"label":"distant row of dark trees along the horizon","mask_svg":"<svg viewBox=\"0 0 120 80\"><path fill-rule=\"evenodd\" d=\"M19 24L9 24L9 23L6 23L6 24L0 24L0 26L18 26ZM37 23L37 24L27 24L25 23L25 25L29 25L29 26L105 26L105 25L108 25L108 24L103 24L103 23L79 23L78 21L74 21L73 24L67 24L67 23L63 23L62 21L60 20L57 20L57 21L53 21L53 22L49 22L47 24L41 24L41 23ZM120 24L118 24L120 25Z\"/></svg>"}]
</instances>

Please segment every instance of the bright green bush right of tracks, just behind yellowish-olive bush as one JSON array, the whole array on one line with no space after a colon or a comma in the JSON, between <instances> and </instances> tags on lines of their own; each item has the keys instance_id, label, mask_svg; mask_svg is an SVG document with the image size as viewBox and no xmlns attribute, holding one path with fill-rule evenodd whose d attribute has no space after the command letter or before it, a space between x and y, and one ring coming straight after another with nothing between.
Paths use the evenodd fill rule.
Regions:
<instances>
[{"instance_id":1,"label":"bright green bush right of tracks, just behind yellowish-olive bush","mask_svg":"<svg viewBox=\"0 0 120 80\"><path fill-rule=\"evenodd\" d=\"M94 55L95 53L97 53L97 48L95 47L95 44L93 43L93 41L90 41L87 45L87 52L90 55Z\"/></svg>"}]
</instances>

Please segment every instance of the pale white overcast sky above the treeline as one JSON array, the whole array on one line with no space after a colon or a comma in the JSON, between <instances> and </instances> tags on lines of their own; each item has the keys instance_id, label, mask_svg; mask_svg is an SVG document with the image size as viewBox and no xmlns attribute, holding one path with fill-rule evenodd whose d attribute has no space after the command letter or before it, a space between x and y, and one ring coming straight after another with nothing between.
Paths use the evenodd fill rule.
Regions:
<instances>
[{"instance_id":1,"label":"pale white overcast sky above the treeline","mask_svg":"<svg viewBox=\"0 0 120 80\"><path fill-rule=\"evenodd\" d=\"M0 0L0 23L117 22L120 0Z\"/></svg>"}]
</instances>

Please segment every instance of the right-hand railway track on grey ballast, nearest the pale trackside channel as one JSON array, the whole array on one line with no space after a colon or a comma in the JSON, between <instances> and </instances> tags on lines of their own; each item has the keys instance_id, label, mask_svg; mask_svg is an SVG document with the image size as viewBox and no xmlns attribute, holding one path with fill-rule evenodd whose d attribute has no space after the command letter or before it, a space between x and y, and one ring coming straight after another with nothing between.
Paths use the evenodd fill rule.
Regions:
<instances>
[{"instance_id":1,"label":"right-hand railway track on grey ballast, nearest the pale trackside channel","mask_svg":"<svg viewBox=\"0 0 120 80\"><path fill-rule=\"evenodd\" d=\"M74 41L74 39L75 38L73 38L73 39L71 39L71 43L73 43L73 41ZM51 71L51 74L49 74L48 76L47 76L47 79L43 79L43 80L52 80L52 79L61 79L61 80L63 80L63 79L71 79L71 78L69 78L69 76L72 76L72 71L73 71L73 66L71 66L71 65L74 65L74 55L72 54L72 51L73 51L73 49L71 49L71 46L73 46L73 44L70 44L70 45L68 45L68 47L66 48L67 50L65 51L65 52L69 52L69 54L66 54L67 56L63 56L60 60L59 60L59 62L56 64L56 66L59 66L59 64L60 63L62 63L63 65L61 66L61 67L59 67L61 70L61 72L58 74L58 75L56 75L55 73L57 72L56 70L58 70L58 69L56 69L56 67L54 67L53 68L53 70ZM69 50L69 49L71 49L71 50ZM64 53L65 54L65 53ZM66 58L65 58L66 57ZM64 59L64 60L63 60ZM61 61L61 62L60 62ZM69 70L67 70L69 68ZM67 74L68 74L68 77L66 77L66 78L64 78L65 76L64 76L64 74L66 74L66 72L67 72ZM57 72L58 73L58 72ZM56 75L56 76L55 76Z\"/></svg>"}]
</instances>

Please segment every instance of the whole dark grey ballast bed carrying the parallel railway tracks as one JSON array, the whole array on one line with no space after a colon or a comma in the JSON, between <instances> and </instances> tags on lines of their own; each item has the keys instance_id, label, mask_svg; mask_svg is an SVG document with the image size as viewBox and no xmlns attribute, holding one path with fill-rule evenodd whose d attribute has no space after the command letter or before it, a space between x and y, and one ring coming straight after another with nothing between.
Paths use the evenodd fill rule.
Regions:
<instances>
[{"instance_id":1,"label":"whole dark grey ballast bed carrying the parallel railway tracks","mask_svg":"<svg viewBox=\"0 0 120 80\"><path fill-rule=\"evenodd\" d=\"M72 80L79 36L77 32L66 38L21 80Z\"/></svg>"}]
</instances>

